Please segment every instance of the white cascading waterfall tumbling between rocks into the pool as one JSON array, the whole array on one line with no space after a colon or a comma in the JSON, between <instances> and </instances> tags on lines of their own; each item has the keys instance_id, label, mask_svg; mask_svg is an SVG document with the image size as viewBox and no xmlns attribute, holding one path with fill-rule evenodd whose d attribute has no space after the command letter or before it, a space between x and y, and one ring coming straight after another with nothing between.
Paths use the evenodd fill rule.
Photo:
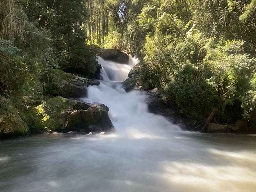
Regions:
<instances>
[{"instance_id":1,"label":"white cascading waterfall tumbling between rocks into the pool","mask_svg":"<svg viewBox=\"0 0 256 192\"><path fill-rule=\"evenodd\" d=\"M121 81L128 78L128 73L138 60L130 57L129 64L119 64L99 58L102 66L99 86L88 87L90 103L103 103L109 107L109 117L114 124L117 134L122 137L163 137L166 131L179 131L164 117L148 112L147 95L140 91L126 93ZM157 130L157 131L156 131Z\"/></svg>"}]
</instances>

